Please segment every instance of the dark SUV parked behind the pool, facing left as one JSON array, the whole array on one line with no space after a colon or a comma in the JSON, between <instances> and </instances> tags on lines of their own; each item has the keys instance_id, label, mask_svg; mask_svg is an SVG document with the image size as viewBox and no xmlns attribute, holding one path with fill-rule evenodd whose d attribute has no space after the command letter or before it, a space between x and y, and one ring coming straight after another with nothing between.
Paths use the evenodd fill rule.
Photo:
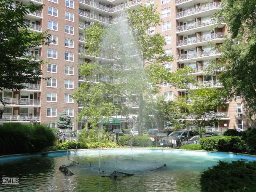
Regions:
<instances>
[{"instance_id":1,"label":"dark SUV parked behind the pool, facing left","mask_svg":"<svg viewBox=\"0 0 256 192\"><path fill-rule=\"evenodd\" d=\"M161 146L172 147L176 143L176 146L181 146L182 142L186 142L193 136L199 135L198 132L192 130L178 130L170 133L167 137L163 137L159 140Z\"/></svg>"}]
</instances>

